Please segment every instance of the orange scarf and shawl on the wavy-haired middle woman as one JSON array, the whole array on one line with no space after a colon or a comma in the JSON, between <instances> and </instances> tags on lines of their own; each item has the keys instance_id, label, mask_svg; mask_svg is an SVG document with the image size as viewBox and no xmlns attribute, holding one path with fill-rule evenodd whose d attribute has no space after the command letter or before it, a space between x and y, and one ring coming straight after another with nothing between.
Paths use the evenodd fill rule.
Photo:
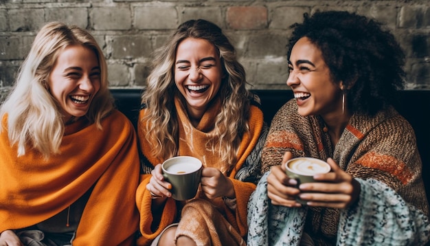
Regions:
<instances>
[{"instance_id":1,"label":"orange scarf and shawl on the wavy-haired middle woman","mask_svg":"<svg viewBox=\"0 0 430 246\"><path fill-rule=\"evenodd\" d=\"M180 118L179 122L182 124L180 127L181 130L179 132L179 139L181 139L181 141L179 141L179 153L181 155L192 155L201 159L203 161L203 166L213 166L219 169L220 164L218 163L219 161L217 161L218 159L216 159L216 156L212 155L212 153L207 153L207 150L203 148L205 145L202 144L206 141L207 137L212 137L204 129L209 129L210 127L208 127L207 124L214 122L213 119L211 119L214 117L214 112L211 113L211 109L208 109L209 112L207 113L212 114L212 116L203 115L201 124L199 124L197 128L193 128L190 127L190 122L184 115L183 109L181 109L179 106L178 100L175 100L175 104ZM215 107L218 106L219 105L215 105ZM216 111L217 109L214 110ZM144 113L145 110L142 110L140 112L139 118L142 119ZM234 228L234 230L240 234L240 236L245 236L247 234L247 203L251 193L256 189L256 185L253 183L238 181L234 179L234 177L236 172L245 163L247 156L256 146L262 131L262 126L262 111L258 109L258 107L251 106L249 116L250 131L249 133L245 133L242 137L242 142L240 143L240 148L238 150L238 162L236 163L236 166L233 168L233 170L227 173L227 177L233 181L234 190L236 192L236 210L231 211L220 198L214 199L212 201L212 204L214 204L216 208L220 210L220 214L224 214L225 219ZM183 130L182 127L187 128L187 130ZM144 129L144 127L139 129ZM150 154L150 143L146 141L144 134L145 133L143 131L139 131L139 140L142 152L144 153L145 157L151 161L152 165L157 165L163 160L157 159ZM194 139L190 139L190 136L194 136ZM137 190L136 202L141 216L140 231L142 232L142 237L139 238L138 245L148 245L158 234L161 233L165 227L174 222L179 210L179 208L177 208L177 203L175 203L173 199L168 199L161 216L159 227L155 232L152 232L151 223L153 218L152 213L150 212L152 199L150 197L150 192L146 190L146 184L149 183L150 177L151 175L142 175L142 183L139 185Z\"/></svg>"}]
</instances>

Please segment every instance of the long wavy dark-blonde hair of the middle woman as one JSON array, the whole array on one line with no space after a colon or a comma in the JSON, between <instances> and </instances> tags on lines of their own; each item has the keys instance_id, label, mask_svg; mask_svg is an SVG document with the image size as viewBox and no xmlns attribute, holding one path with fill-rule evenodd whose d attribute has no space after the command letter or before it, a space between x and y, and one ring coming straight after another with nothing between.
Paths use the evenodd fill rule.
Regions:
<instances>
[{"instance_id":1,"label":"long wavy dark-blonde hair of the middle woman","mask_svg":"<svg viewBox=\"0 0 430 246\"><path fill-rule=\"evenodd\" d=\"M142 93L146 105L146 139L152 143L152 154L161 159L177 155L178 120L174 110L174 96L184 101L174 83L174 61L177 47L185 38L203 38L219 52L224 74L218 96L222 109L214 122L212 140L207 146L220 153L221 161L236 164L236 154L243 133L249 131L247 120L251 93L246 89L245 69L236 58L236 51L220 27L203 19L182 23L163 47L155 51L148 87Z\"/></svg>"}]
</instances>

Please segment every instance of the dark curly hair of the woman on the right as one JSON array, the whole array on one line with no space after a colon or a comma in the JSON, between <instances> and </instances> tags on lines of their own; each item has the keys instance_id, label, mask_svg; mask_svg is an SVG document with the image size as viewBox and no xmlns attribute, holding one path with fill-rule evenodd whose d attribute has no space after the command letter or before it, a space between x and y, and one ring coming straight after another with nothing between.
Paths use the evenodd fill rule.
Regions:
<instances>
[{"instance_id":1,"label":"dark curly hair of the woman on the right","mask_svg":"<svg viewBox=\"0 0 430 246\"><path fill-rule=\"evenodd\" d=\"M333 80L343 81L348 109L374 115L394 103L405 82L405 54L381 26L346 11L305 13L303 23L291 25L288 60L294 44L306 36L321 49Z\"/></svg>"}]
</instances>

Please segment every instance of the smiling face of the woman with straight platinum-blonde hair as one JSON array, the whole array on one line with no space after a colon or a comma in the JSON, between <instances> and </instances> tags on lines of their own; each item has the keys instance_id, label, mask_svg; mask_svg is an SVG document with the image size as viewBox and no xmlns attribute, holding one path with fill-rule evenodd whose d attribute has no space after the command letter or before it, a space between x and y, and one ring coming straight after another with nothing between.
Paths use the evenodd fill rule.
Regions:
<instances>
[{"instance_id":1,"label":"smiling face of the woman with straight platinum-blonde hair","mask_svg":"<svg viewBox=\"0 0 430 246\"><path fill-rule=\"evenodd\" d=\"M66 47L54 63L48 85L64 122L72 116L84 116L100 89L100 66L95 52L82 45Z\"/></svg>"}]
</instances>

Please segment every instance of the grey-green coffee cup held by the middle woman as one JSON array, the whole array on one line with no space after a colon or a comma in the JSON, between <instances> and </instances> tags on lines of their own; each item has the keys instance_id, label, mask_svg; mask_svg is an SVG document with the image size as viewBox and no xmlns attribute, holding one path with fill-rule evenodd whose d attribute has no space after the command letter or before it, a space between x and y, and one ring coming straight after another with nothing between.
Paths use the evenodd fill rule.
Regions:
<instances>
[{"instance_id":1,"label":"grey-green coffee cup held by the middle woman","mask_svg":"<svg viewBox=\"0 0 430 246\"><path fill-rule=\"evenodd\" d=\"M172 197L178 201L192 199L199 189L202 163L190 156L177 156L161 164L163 176L172 184Z\"/></svg>"}]
</instances>

